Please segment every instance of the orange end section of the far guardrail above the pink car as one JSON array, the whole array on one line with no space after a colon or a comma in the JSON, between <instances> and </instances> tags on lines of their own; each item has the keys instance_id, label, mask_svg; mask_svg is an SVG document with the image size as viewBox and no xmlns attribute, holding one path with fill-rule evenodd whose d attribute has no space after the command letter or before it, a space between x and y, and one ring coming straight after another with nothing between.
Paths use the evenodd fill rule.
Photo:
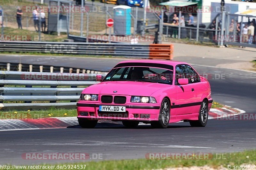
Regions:
<instances>
[{"instance_id":1,"label":"orange end section of the far guardrail above the pink car","mask_svg":"<svg viewBox=\"0 0 256 170\"><path fill-rule=\"evenodd\" d=\"M173 59L173 44L149 44L149 58Z\"/></svg>"}]
</instances>

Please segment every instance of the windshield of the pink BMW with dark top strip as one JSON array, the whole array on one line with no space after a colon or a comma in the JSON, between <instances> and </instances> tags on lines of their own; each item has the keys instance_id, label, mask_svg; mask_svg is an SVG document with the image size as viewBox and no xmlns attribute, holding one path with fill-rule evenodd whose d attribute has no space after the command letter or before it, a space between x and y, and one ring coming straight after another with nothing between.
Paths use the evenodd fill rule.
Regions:
<instances>
[{"instance_id":1,"label":"windshield of the pink BMW with dark top strip","mask_svg":"<svg viewBox=\"0 0 256 170\"><path fill-rule=\"evenodd\" d=\"M103 81L145 81L172 84L173 71L155 67L120 67L111 70Z\"/></svg>"}]
</instances>

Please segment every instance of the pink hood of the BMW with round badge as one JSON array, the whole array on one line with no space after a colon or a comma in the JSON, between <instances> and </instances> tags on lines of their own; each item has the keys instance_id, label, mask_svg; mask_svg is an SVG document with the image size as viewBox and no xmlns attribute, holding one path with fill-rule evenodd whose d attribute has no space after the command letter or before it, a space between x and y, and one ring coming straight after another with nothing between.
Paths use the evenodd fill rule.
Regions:
<instances>
[{"instance_id":1,"label":"pink hood of the BMW with round badge","mask_svg":"<svg viewBox=\"0 0 256 170\"><path fill-rule=\"evenodd\" d=\"M150 82L107 81L96 85L91 85L85 88L83 93L150 96L157 90L170 86L171 85Z\"/></svg>"}]
</instances>

